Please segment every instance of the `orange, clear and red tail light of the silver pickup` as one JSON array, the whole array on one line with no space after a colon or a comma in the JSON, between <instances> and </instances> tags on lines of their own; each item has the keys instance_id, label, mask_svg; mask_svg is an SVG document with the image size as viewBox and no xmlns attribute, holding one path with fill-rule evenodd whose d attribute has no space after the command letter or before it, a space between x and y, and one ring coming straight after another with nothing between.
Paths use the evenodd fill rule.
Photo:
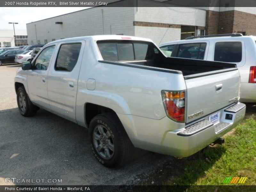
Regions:
<instances>
[{"instance_id":1,"label":"orange, clear and red tail light of the silver pickup","mask_svg":"<svg viewBox=\"0 0 256 192\"><path fill-rule=\"evenodd\" d=\"M180 123L185 122L185 91L162 91L166 115Z\"/></svg>"}]
</instances>

